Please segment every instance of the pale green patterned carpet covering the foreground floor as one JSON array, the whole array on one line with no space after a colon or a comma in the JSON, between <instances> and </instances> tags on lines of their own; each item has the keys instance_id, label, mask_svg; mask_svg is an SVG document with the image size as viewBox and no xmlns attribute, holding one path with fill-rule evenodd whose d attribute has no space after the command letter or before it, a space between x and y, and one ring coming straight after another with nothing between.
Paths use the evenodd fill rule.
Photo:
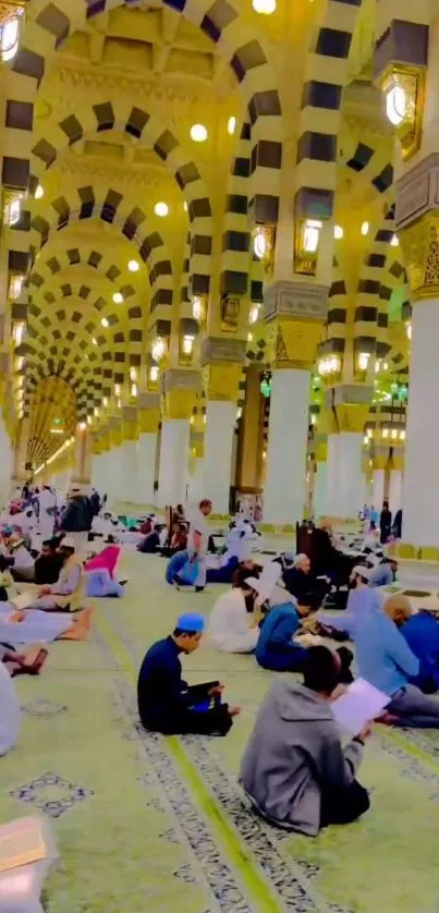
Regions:
<instances>
[{"instance_id":1,"label":"pale green patterned carpet covering the foreground floor","mask_svg":"<svg viewBox=\"0 0 439 913\"><path fill-rule=\"evenodd\" d=\"M178 613L208 612L163 581L164 562L126 555L123 600L101 600L92 638L57 643L39 679L17 680L19 747L1 765L1 820L47 815L61 860L49 913L437 913L439 733L377 729L361 779L373 807L316 840L251 815L240 757L269 673L208 648L184 660L192 682L221 678L243 715L225 739L162 739L137 725L145 648Z\"/></svg>"}]
</instances>

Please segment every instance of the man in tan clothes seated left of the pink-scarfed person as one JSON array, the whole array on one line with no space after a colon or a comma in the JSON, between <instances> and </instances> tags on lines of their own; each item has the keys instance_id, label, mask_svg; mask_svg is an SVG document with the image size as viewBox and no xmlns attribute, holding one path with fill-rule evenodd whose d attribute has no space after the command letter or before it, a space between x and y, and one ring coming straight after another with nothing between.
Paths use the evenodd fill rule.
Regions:
<instances>
[{"instance_id":1,"label":"man in tan clothes seated left of the pink-scarfed person","mask_svg":"<svg viewBox=\"0 0 439 913\"><path fill-rule=\"evenodd\" d=\"M38 598L29 609L41 609L46 612L72 611L78 608L85 589L85 580L81 559L75 553L73 539L65 536L59 548L63 558L57 583L38 587ZM27 592L27 584L21 585L22 592Z\"/></svg>"}]
</instances>

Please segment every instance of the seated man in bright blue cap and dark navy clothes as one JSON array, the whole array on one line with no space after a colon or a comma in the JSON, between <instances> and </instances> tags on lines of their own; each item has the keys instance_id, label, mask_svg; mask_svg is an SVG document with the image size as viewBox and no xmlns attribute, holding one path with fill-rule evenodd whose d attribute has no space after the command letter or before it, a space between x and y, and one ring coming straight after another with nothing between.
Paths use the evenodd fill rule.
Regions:
<instances>
[{"instance_id":1,"label":"seated man in bright blue cap and dark navy clothes","mask_svg":"<svg viewBox=\"0 0 439 913\"><path fill-rule=\"evenodd\" d=\"M221 703L222 685L208 682L190 687L182 679L180 654L199 647L204 626L203 616L183 614L173 633L146 653L137 681L138 714L145 729L166 735L229 732L240 708Z\"/></svg>"}]
</instances>

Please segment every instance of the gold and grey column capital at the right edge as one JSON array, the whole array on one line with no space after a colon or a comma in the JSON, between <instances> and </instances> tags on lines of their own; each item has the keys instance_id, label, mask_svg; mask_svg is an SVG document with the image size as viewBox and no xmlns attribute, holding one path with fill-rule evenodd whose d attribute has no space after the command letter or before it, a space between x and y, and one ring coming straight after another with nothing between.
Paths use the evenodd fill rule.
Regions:
<instances>
[{"instance_id":1,"label":"gold and grey column capital at the right edge","mask_svg":"<svg viewBox=\"0 0 439 913\"><path fill-rule=\"evenodd\" d=\"M413 299L439 295L439 153L397 182L395 228Z\"/></svg>"}]
</instances>

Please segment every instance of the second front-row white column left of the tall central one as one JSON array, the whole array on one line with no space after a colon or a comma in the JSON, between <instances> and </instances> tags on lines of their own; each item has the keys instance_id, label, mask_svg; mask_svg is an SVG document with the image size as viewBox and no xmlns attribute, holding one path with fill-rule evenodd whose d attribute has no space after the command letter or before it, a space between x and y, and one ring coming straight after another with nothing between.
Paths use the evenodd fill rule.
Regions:
<instances>
[{"instance_id":1,"label":"second front-row white column left of the tall central one","mask_svg":"<svg viewBox=\"0 0 439 913\"><path fill-rule=\"evenodd\" d=\"M190 422L199 375L172 368L163 376L158 503L164 508L186 502Z\"/></svg>"}]
</instances>

